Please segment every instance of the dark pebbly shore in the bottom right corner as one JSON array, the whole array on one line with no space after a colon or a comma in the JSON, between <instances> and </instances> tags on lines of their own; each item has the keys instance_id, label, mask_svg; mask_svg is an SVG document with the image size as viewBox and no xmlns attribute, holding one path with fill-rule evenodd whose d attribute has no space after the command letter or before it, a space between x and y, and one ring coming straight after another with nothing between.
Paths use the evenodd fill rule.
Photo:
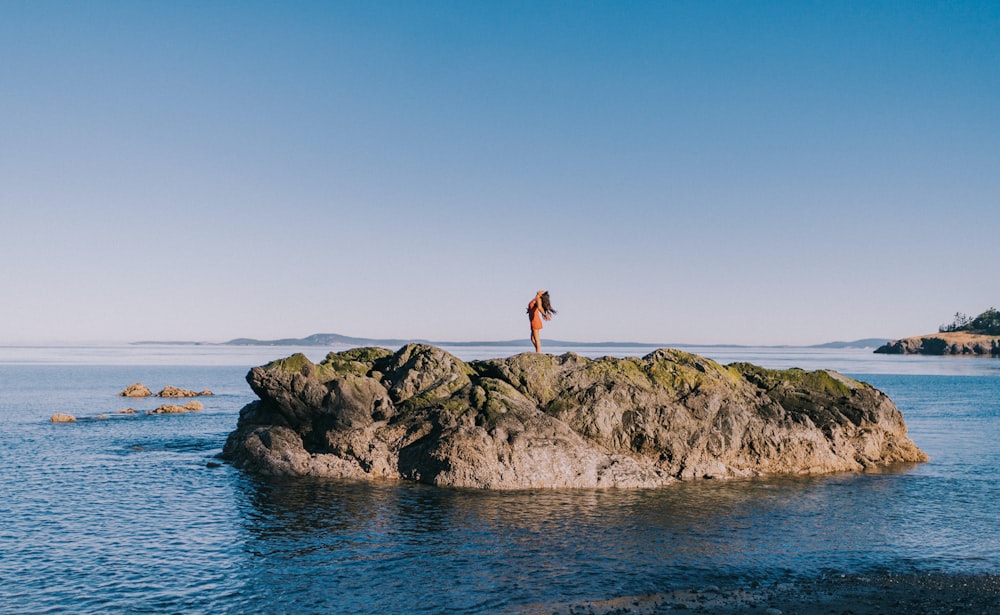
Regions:
<instances>
[{"instance_id":1,"label":"dark pebbly shore in the bottom right corner","mask_svg":"<svg viewBox=\"0 0 1000 615\"><path fill-rule=\"evenodd\" d=\"M667 590L595 602L521 611L552 615L876 615L1000 613L1000 575L936 573L833 575L795 582Z\"/></svg>"}]
</instances>

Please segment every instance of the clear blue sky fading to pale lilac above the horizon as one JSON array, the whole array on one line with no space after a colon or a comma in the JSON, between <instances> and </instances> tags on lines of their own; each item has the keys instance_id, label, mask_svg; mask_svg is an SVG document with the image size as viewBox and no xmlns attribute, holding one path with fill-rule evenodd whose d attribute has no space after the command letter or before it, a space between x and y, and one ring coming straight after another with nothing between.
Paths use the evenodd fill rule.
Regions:
<instances>
[{"instance_id":1,"label":"clear blue sky fading to pale lilac above the horizon","mask_svg":"<svg viewBox=\"0 0 1000 615\"><path fill-rule=\"evenodd\" d=\"M1000 307L1000 3L0 3L0 344Z\"/></svg>"}]
</instances>

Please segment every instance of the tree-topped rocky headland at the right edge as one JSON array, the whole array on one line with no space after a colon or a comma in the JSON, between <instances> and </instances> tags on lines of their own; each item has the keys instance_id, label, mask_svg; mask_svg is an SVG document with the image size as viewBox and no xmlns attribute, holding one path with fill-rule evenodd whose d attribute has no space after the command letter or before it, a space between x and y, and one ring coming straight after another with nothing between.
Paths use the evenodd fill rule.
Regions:
<instances>
[{"instance_id":1,"label":"tree-topped rocky headland at the right edge","mask_svg":"<svg viewBox=\"0 0 1000 615\"><path fill-rule=\"evenodd\" d=\"M937 333L893 340L875 352L1000 357L1000 312L990 308L975 318L958 312L951 323L938 327Z\"/></svg>"}]
</instances>

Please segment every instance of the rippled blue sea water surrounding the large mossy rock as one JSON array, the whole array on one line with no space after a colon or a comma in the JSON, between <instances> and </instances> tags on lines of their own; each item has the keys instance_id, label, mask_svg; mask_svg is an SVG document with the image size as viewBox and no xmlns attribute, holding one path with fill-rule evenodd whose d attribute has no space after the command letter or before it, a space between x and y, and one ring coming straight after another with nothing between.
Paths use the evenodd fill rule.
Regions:
<instances>
[{"instance_id":1,"label":"rippled blue sea water surrounding the large mossy rock","mask_svg":"<svg viewBox=\"0 0 1000 615\"><path fill-rule=\"evenodd\" d=\"M296 350L318 361L328 349L0 348L0 612L518 612L831 572L1000 572L997 360L694 348L871 382L931 461L654 491L492 493L264 480L218 464L254 399L246 371ZM137 381L216 395L200 413L147 416L162 400L117 397ZM126 406L139 413L115 414ZM81 420L51 424L56 412Z\"/></svg>"}]
</instances>

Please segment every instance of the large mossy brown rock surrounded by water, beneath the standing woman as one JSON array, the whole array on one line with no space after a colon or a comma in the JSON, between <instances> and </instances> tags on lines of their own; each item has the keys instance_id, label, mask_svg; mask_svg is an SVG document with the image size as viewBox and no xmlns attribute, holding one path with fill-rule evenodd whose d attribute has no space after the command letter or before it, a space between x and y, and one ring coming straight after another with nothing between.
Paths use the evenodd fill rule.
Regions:
<instances>
[{"instance_id":1,"label":"large mossy brown rock surrounded by water, beneath the standing woman","mask_svg":"<svg viewBox=\"0 0 1000 615\"><path fill-rule=\"evenodd\" d=\"M223 456L269 475L640 488L927 459L868 384L677 350L464 363L411 344L318 365L296 354L247 381L260 400L241 410Z\"/></svg>"}]
</instances>

